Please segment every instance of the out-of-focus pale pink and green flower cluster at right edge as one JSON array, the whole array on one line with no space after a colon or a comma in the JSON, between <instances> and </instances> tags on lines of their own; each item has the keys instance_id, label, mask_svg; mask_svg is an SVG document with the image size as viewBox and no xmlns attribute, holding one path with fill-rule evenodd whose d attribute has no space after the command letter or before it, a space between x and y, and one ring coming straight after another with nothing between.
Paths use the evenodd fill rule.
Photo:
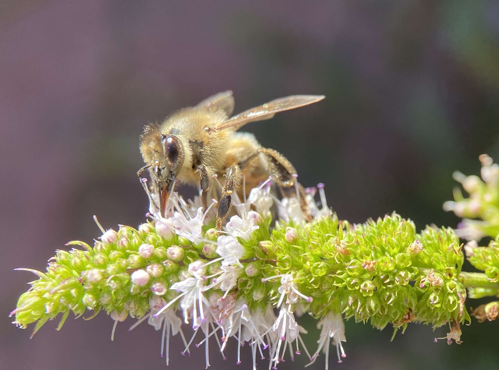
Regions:
<instances>
[{"instance_id":1,"label":"out-of-focus pale pink and green flower cluster at right edge","mask_svg":"<svg viewBox=\"0 0 499 370\"><path fill-rule=\"evenodd\" d=\"M467 240L480 240L484 236L495 238L499 234L499 165L486 154L479 159L482 178L465 176L459 171L453 175L470 197L465 198L456 188L454 201L446 201L443 206L444 210L454 211L463 218L456 233Z\"/></svg>"}]
</instances>

